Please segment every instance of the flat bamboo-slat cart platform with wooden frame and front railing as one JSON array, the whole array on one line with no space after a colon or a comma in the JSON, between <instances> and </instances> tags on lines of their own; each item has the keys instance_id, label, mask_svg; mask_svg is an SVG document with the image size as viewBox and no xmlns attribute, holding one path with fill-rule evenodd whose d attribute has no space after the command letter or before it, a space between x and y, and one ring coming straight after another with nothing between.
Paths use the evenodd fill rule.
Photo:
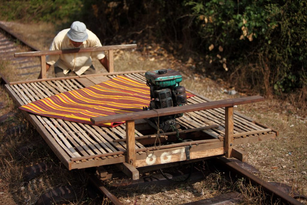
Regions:
<instances>
[{"instance_id":1,"label":"flat bamboo-slat cart platform with wooden frame and front railing","mask_svg":"<svg viewBox=\"0 0 307 205\"><path fill-rule=\"evenodd\" d=\"M42 68L44 64L42 58ZM14 103L22 106L58 93L96 85L118 75L146 84L144 74L145 71L115 73L112 68L111 73L10 82L5 89ZM278 134L272 128L234 111L235 105L263 101L261 96L210 101L189 92L195 96L188 98L188 104L184 106L91 119L95 124L126 121L113 128L21 112L69 170L117 164L133 179L138 179L138 168L161 164L204 160L213 156L235 157L244 161L247 154L235 145L273 139ZM182 133L180 137L193 141L167 143L176 140L175 136L169 135L166 139L161 135L161 145L155 143L155 137L150 136L154 136L157 130L144 119L182 112L184 115L176 121L183 130L191 132ZM195 128L202 130L191 130Z\"/></svg>"}]
</instances>

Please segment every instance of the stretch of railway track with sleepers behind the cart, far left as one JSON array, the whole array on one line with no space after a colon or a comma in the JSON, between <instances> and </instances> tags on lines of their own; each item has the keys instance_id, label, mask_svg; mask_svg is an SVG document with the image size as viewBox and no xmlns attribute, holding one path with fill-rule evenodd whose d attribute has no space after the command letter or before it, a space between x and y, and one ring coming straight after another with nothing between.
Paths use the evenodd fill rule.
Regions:
<instances>
[{"instance_id":1,"label":"stretch of railway track with sleepers behind the cart, far left","mask_svg":"<svg viewBox=\"0 0 307 205\"><path fill-rule=\"evenodd\" d=\"M24 51L38 51L36 47L26 42L24 37L14 33L10 28L0 23L0 60L5 65L10 65L18 78L28 78L40 73L40 60L38 57L15 58L14 53ZM4 82L8 83L6 73L0 73Z\"/></svg>"}]
</instances>

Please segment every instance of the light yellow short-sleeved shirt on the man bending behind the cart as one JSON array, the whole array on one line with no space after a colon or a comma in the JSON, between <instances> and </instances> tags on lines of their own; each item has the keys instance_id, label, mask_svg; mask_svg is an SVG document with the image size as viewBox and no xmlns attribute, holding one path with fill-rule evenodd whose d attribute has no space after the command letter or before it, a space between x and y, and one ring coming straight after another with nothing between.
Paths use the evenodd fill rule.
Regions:
<instances>
[{"instance_id":1,"label":"light yellow short-sleeved shirt on the man bending behind the cart","mask_svg":"<svg viewBox=\"0 0 307 205\"><path fill-rule=\"evenodd\" d=\"M70 42L67 32L69 29L60 31L56 37L54 37L49 50L62 50L76 48ZM98 37L87 30L88 38L78 48L88 47L100 47L102 46ZM72 70L77 75L81 75L92 65L92 57L96 57L99 60L105 57L103 51L87 52L87 53L67 53L61 55L50 55L46 57L46 62L49 65L54 65L63 69L63 73L67 74L69 70Z\"/></svg>"}]
</instances>

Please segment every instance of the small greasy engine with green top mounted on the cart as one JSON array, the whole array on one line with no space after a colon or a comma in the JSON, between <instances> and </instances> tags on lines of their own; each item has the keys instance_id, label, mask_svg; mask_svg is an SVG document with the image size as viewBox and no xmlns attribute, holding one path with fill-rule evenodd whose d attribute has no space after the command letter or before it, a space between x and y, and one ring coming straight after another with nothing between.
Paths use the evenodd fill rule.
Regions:
<instances>
[{"instance_id":1,"label":"small greasy engine with green top mounted on the cart","mask_svg":"<svg viewBox=\"0 0 307 205\"><path fill-rule=\"evenodd\" d=\"M179 85L182 81L182 76L178 71L172 69L147 71L145 78L146 85L150 87L151 101L149 107L143 107L143 110L176 107L187 103L185 87ZM164 130L169 130L170 126L175 125L175 118L182 115L183 113L161 116L159 119L160 127L162 126ZM158 121L157 117L150 120Z\"/></svg>"}]
</instances>

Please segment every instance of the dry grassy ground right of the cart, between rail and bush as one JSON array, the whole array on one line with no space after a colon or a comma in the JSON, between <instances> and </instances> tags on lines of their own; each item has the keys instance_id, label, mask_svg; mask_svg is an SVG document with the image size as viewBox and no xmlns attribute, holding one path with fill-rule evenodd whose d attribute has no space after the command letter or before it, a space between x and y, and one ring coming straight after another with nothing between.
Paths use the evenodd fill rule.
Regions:
<instances>
[{"instance_id":1,"label":"dry grassy ground right of the cart, between rail and bush","mask_svg":"<svg viewBox=\"0 0 307 205\"><path fill-rule=\"evenodd\" d=\"M248 113L258 122L278 130L279 136L275 140L241 147L250 153L249 163L261 171L264 180L286 183L307 195L307 139L304 135L307 119L289 114L286 110L263 112L271 103L276 102L267 100L262 105L243 106L240 112Z\"/></svg>"}]
</instances>

